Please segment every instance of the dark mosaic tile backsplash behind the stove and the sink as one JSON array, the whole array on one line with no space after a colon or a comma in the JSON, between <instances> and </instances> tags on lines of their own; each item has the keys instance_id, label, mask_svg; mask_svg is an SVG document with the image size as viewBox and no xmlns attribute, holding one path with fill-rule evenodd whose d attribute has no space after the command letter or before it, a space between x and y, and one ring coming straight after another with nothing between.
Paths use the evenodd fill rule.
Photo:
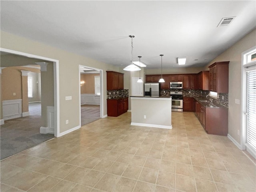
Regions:
<instances>
[{"instance_id":1,"label":"dark mosaic tile backsplash behind the stove and the sink","mask_svg":"<svg viewBox=\"0 0 256 192\"><path fill-rule=\"evenodd\" d=\"M160 90L160 96L170 96L170 92L182 92L182 95L184 97L202 97L205 98L206 95L209 94L209 91L203 91L203 90L194 90L194 89L161 89ZM224 99L222 99L222 96ZM213 103L220 104L222 106L228 107L228 93L219 93L219 98L213 99Z\"/></svg>"}]
</instances>

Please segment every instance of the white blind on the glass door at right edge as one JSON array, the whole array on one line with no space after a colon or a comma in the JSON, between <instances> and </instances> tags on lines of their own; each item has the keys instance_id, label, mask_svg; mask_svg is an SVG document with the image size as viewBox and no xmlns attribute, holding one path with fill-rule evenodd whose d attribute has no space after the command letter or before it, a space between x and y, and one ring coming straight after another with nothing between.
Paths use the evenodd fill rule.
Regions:
<instances>
[{"instance_id":1,"label":"white blind on the glass door at right edge","mask_svg":"<svg viewBox=\"0 0 256 192\"><path fill-rule=\"evenodd\" d=\"M247 72L246 145L256 150L256 70Z\"/></svg>"}]
</instances>

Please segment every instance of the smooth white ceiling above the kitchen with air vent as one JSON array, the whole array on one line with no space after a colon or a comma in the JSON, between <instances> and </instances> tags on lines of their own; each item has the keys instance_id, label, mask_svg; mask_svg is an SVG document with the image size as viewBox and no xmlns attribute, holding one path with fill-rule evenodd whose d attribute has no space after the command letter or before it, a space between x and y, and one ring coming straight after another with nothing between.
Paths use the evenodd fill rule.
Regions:
<instances>
[{"instance_id":1,"label":"smooth white ceiling above the kitchen with air vent","mask_svg":"<svg viewBox=\"0 0 256 192\"><path fill-rule=\"evenodd\" d=\"M222 18L236 16L229 26ZM2 1L1 30L101 62L202 67L256 28L256 1ZM178 66L177 57L186 57Z\"/></svg>"}]
</instances>

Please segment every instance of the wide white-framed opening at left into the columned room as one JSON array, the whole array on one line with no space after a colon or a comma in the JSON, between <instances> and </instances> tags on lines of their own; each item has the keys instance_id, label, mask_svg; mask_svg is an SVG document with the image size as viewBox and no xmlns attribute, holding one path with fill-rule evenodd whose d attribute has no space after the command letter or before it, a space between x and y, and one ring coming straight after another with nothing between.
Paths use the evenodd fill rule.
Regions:
<instances>
[{"instance_id":1,"label":"wide white-framed opening at left into the columned room","mask_svg":"<svg viewBox=\"0 0 256 192\"><path fill-rule=\"evenodd\" d=\"M59 135L59 101L58 101L58 60L50 58L44 58L41 56L31 55L23 52L17 52L14 50L8 50L1 48L1 160L22 152L28 148L36 146L46 140L54 138ZM11 62L10 62L11 61ZM15 62L14 62L15 61ZM40 65L35 62L47 62L50 76L52 76L52 108L56 111L53 114L52 134L40 134L41 126L48 126L47 116L41 111L41 78ZM38 71L36 71L38 70ZM12 77L16 77L19 80L12 81L14 85L7 82L6 86L2 86L4 81L3 77L8 76L8 72ZM14 73L13 73L14 72ZM16 74L15 74L16 72ZM33 72L34 74L29 74ZM6 73L6 74L5 74ZM37 73L37 74L36 74ZM18 74L18 76L17 76ZM47 74L47 72L45 72ZM46 79L45 74L42 76L42 83ZM34 83L32 79L34 78ZM6 78L5 78L6 79ZM34 84L34 86L33 86ZM19 85L18 88L16 85ZM29 87L30 86L30 87ZM32 86L32 87L31 87ZM3 91L6 87L7 93ZM30 92L29 90L30 89ZM31 90L36 89L35 92ZM45 90L44 90L45 91ZM11 93L11 94L10 94ZM34 94L34 95L33 95ZM16 97L15 97L16 96ZM33 100L33 98L35 100ZM46 100L44 94L42 94L42 100ZM47 103L42 101L42 105ZM42 124L41 119L46 121L46 125ZM6 131L4 131L6 130ZM11 141L12 143L8 143Z\"/></svg>"}]
</instances>

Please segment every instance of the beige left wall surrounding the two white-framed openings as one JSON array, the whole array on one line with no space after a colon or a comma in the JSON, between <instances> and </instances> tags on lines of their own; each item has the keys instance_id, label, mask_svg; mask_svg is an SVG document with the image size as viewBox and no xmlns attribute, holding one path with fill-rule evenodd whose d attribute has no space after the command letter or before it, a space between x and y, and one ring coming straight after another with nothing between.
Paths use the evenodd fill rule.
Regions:
<instances>
[{"instance_id":1,"label":"beige left wall surrounding the two white-framed openings","mask_svg":"<svg viewBox=\"0 0 256 192\"><path fill-rule=\"evenodd\" d=\"M79 65L103 70L104 115L107 114L106 104L106 70L119 72L119 68L84 56L67 52L42 42L36 42L21 36L1 31L1 48L16 50L47 58L59 60L60 81L60 133L79 126ZM42 76L41 76L42 80ZM52 82L53 83L53 82ZM43 84L43 83L42 83ZM42 91L43 92L43 91ZM72 96L72 100L65 100ZM69 120L69 124L66 124Z\"/></svg>"}]
</instances>

